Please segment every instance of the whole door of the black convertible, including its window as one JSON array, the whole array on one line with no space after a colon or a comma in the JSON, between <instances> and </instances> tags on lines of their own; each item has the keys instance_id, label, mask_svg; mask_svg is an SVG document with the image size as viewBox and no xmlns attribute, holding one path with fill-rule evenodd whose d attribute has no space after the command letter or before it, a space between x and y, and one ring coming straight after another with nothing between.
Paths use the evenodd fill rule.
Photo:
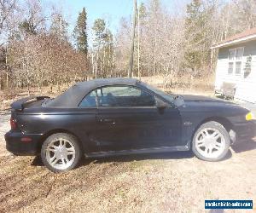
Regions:
<instances>
[{"instance_id":1,"label":"whole door of the black convertible, including its window","mask_svg":"<svg viewBox=\"0 0 256 213\"><path fill-rule=\"evenodd\" d=\"M97 89L95 139L102 152L172 147L180 141L181 118L175 107L156 107L156 97L133 86Z\"/></svg>"}]
</instances>

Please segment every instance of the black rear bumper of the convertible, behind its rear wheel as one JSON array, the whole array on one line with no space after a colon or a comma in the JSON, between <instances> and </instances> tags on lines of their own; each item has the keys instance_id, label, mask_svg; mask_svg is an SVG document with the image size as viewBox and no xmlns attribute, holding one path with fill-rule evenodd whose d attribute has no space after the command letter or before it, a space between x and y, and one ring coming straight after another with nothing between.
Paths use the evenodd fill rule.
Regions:
<instances>
[{"instance_id":1,"label":"black rear bumper of the convertible, behind its rear wheel","mask_svg":"<svg viewBox=\"0 0 256 213\"><path fill-rule=\"evenodd\" d=\"M4 135L6 149L15 155L37 155L39 151L40 134L23 134L20 131L10 130ZM22 141L24 138L31 141Z\"/></svg>"}]
</instances>

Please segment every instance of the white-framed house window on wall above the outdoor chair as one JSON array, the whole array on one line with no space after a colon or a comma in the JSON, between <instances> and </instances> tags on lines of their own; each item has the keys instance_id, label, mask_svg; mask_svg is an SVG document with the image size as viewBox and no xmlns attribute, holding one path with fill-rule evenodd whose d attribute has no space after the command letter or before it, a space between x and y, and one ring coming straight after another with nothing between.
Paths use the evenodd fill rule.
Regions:
<instances>
[{"instance_id":1,"label":"white-framed house window on wall above the outdoor chair","mask_svg":"<svg viewBox=\"0 0 256 213\"><path fill-rule=\"evenodd\" d=\"M241 62L244 48L229 49L229 69L228 73L241 75ZM234 72L235 69L235 72Z\"/></svg>"}]
</instances>

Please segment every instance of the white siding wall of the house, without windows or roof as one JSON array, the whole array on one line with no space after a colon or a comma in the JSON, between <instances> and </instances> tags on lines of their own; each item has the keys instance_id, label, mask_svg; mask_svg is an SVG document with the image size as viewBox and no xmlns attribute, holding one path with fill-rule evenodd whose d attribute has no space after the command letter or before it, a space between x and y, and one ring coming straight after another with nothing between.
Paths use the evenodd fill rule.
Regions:
<instances>
[{"instance_id":1,"label":"white siding wall of the house, without windows or roof","mask_svg":"<svg viewBox=\"0 0 256 213\"><path fill-rule=\"evenodd\" d=\"M237 47L244 47L244 54L241 60L241 75L228 73L229 49ZM251 72L245 78L244 69L249 55L252 55ZM221 89L224 82L236 84L236 99L256 103L256 41L236 44L218 50L215 89Z\"/></svg>"}]
</instances>

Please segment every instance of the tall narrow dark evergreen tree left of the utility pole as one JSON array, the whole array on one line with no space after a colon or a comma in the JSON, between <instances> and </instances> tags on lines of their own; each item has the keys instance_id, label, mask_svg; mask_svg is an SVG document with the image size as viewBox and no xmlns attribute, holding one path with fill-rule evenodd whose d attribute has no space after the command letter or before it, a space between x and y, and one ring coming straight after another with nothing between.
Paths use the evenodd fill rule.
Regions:
<instances>
[{"instance_id":1,"label":"tall narrow dark evergreen tree left of the utility pole","mask_svg":"<svg viewBox=\"0 0 256 213\"><path fill-rule=\"evenodd\" d=\"M87 32L86 32L86 21L87 21L87 13L85 8L83 8L82 12L79 13L79 17L77 20L77 25L74 29L74 37L77 44L77 49L80 52L83 52L87 55L88 53L88 42L87 42Z\"/></svg>"}]
</instances>

